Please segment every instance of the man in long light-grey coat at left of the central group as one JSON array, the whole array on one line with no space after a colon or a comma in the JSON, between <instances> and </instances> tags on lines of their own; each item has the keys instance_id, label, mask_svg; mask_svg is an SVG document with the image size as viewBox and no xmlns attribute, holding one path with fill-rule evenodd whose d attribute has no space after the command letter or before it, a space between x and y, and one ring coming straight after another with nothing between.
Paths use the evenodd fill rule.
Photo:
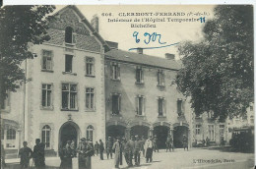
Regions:
<instances>
[{"instance_id":1,"label":"man in long light-grey coat at left of the central group","mask_svg":"<svg viewBox=\"0 0 256 169\"><path fill-rule=\"evenodd\" d=\"M122 163L122 143L120 141L120 138L117 137L116 141L113 144L112 147L113 151L114 151L114 166L115 168L119 168L119 164L123 165Z\"/></svg>"}]
</instances>

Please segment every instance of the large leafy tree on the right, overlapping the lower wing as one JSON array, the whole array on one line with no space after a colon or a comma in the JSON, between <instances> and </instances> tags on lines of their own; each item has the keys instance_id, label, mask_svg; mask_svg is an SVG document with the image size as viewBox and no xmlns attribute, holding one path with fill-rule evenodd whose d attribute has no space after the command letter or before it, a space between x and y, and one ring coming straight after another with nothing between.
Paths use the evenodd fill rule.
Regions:
<instances>
[{"instance_id":1,"label":"large leafy tree on the right, overlapping the lower wing","mask_svg":"<svg viewBox=\"0 0 256 169\"><path fill-rule=\"evenodd\" d=\"M183 68L177 88L191 96L196 115L213 111L215 118L245 116L253 102L253 7L221 5L203 28L200 42L178 47Z\"/></svg>"}]
</instances>

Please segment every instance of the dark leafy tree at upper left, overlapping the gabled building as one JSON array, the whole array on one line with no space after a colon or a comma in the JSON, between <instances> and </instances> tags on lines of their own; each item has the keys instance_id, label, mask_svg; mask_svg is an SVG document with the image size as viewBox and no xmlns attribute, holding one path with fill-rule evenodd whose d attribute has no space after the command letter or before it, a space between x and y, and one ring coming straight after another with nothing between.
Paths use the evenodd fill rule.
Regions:
<instances>
[{"instance_id":1,"label":"dark leafy tree at upper left, overlapping the gabled building","mask_svg":"<svg viewBox=\"0 0 256 169\"><path fill-rule=\"evenodd\" d=\"M25 80L21 63L33 58L30 43L49 40L48 16L55 6L5 6L0 9L0 99L8 90L15 91Z\"/></svg>"}]
</instances>

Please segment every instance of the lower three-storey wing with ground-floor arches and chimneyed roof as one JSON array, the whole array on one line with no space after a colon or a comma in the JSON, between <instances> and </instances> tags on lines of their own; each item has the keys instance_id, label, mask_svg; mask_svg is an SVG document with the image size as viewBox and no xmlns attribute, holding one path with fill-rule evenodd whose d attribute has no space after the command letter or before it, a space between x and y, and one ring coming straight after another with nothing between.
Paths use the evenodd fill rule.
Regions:
<instances>
[{"instance_id":1,"label":"lower three-storey wing with ground-floor arches and chimneyed roof","mask_svg":"<svg viewBox=\"0 0 256 169\"><path fill-rule=\"evenodd\" d=\"M167 134L174 145L191 139L191 109L174 79L180 65L174 55L159 58L112 49L105 54L106 136L157 136L164 147Z\"/></svg>"}]
</instances>

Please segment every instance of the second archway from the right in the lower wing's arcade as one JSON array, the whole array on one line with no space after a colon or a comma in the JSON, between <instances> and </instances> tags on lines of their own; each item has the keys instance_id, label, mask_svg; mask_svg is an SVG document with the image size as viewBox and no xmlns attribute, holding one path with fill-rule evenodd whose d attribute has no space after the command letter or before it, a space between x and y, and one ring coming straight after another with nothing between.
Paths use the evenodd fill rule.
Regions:
<instances>
[{"instance_id":1,"label":"second archway from the right in the lower wing's arcade","mask_svg":"<svg viewBox=\"0 0 256 169\"><path fill-rule=\"evenodd\" d=\"M169 128L166 126L156 126L153 131L153 135L158 138L159 148L165 148L165 141L169 133Z\"/></svg>"}]
</instances>

